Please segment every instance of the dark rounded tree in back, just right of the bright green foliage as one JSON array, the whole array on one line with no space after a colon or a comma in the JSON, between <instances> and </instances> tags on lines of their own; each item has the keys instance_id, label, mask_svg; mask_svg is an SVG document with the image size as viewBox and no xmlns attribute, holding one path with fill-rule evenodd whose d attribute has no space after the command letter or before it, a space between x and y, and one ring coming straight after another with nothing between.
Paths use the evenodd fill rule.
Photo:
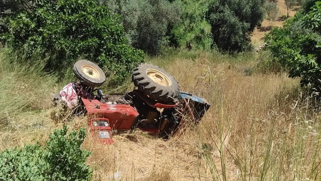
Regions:
<instances>
[{"instance_id":1,"label":"dark rounded tree in back, just right of the bright green foliage","mask_svg":"<svg viewBox=\"0 0 321 181\"><path fill-rule=\"evenodd\" d=\"M221 50L251 49L250 35L264 16L265 0L213 0L207 20L212 26L213 42Z\"/></svg>"}]
</instances>

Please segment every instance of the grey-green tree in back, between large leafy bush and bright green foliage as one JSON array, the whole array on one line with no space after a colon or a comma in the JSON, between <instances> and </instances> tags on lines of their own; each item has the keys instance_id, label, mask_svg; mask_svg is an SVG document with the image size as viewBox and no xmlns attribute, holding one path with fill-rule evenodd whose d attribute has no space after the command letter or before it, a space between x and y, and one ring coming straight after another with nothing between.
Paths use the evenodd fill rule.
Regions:
<instances>
[{"instance_id":1,"label":"grey-green tree in back, between large leafy bush and bright green foliage","mask_svg":"<svg viewBox=\"0 0 321 181\"><path fill-rule=\"evenodd\" d=\"M101 4L123 17L129 42L148 54L168 46L170 29L180 20L180 6L167 0L107 0Z\"/></svg>"}]
</instances>

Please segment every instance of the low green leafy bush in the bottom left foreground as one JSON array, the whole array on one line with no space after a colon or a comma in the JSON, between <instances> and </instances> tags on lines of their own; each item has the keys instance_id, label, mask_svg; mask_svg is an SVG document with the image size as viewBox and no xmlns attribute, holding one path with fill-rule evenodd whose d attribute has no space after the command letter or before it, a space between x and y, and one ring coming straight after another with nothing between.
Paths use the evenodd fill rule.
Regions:
<instances>
[{"instance_id":1,"label":"low green leafy bush in the bottom left foreground","mask_svg":"<svg viewBox=\"0 0 321 181\"><path fill-rule=\"evenodd\" d=\"M38 143L0 153L0 180L91 180L92 170L85 164L90 152L81 149L85 130L68 136L67 130L66 126L55 130L45 146Z\"/></svg>"}]
</instances>

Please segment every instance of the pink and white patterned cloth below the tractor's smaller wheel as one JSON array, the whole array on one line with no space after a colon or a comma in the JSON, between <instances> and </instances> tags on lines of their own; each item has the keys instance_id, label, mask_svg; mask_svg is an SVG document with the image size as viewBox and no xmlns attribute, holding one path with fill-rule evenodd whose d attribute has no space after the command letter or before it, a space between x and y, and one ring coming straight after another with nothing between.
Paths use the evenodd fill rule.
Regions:
<instances>
[{"instance_id":1,"label":"pink and white patterned cloth below the tractor's smaller wheel","mask_svg":"<svg viewBox=\"0 0 321 181\"><path fill-rule=\"evenodd\" d=\"M72 109L75 105L77 105L78 95L76 90L73 88L73 84L67 84L61 91L60 91L61 99L64 101L67 106Z\"/></svg>"}]
</instances>

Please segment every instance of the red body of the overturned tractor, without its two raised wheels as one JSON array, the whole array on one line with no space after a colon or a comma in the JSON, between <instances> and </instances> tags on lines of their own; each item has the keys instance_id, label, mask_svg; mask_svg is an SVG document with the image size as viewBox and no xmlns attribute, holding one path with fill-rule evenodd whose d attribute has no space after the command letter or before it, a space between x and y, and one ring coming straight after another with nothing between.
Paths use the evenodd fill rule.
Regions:
<instances>
[{"instance_id":1,"label":"red body of the overturned tractor, without its two raised wheels","mask_svg":"<svg viewBox=\"0 0 321 181\"><path fill-rule=\"evenodd\" d=\"M123 101L120 101L121 98ZM206 100L184 92L180 93L180 102L161 104L137 90L103 96L101 100L81 97L81 102L91 118L89 125L92 135L103 144L114 142L114 130L121 132L139 128L152 135L167 137L177 131L185 116L191 115L197 123L210 107Z\"/></svg>"}]
</instances>

